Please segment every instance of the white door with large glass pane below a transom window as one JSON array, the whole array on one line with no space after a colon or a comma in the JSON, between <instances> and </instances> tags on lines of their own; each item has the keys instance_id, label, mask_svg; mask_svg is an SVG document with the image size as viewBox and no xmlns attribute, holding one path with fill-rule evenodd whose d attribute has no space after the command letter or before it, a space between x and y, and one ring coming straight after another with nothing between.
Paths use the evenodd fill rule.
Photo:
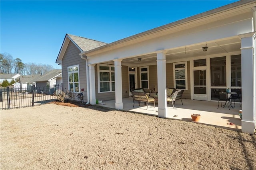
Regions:
<instances>
[{"instance_id":1,"label":"white door with large glass pane below a transom window","mask_svg":"<svg viewBox=\"0 0 256 170\"><path fill-rule=\"evenodd\" d=\"M207 101L206 69L193 70L193 99Z\"/></svg>"}]
</instances>

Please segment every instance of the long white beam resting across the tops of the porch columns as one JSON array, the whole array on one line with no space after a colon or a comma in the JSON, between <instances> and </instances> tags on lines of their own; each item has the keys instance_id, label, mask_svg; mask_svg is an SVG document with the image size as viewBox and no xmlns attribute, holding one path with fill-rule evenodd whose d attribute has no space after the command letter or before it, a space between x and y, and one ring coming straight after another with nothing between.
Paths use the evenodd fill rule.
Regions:
<instances>
[{"instance_id":1,"label":"long white beam resting across the tops of the porch columns","mask_svg":"<svg viewBox=\"0 0 256 170\"><path fill-rule=\"evenodd\" d=\"M204 30L193 30L193 32L180 34L169 34L152 40L127 45L100 53L98 55L87 56L89 64L112 61L113 59L124 59L148 53L156 53L160 49L170 50L186 45L193 45L202 42L211 42L224 38L236 37L240 34L252 32L251 18L222 26L205 28ZM117 57L118 56L118 57Z\"/></svg>"}]
</instances>

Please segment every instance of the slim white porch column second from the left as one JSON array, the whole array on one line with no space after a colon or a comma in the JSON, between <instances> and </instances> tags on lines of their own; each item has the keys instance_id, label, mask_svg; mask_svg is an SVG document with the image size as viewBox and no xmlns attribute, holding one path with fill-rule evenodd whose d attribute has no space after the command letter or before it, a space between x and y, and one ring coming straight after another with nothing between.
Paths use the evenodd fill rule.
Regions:
<instances>
[{"instance_id":1,"label":"slim white porch column second from the left","mask_svg":"<svg viewBox=\"0 0 256 170\"><path fill-rule=\"evenodd\" d=\"M116 109L123 109L122 95L122 59L114 59L115 63L115 91L116 91Z\"/></svg>"}]
</instances>

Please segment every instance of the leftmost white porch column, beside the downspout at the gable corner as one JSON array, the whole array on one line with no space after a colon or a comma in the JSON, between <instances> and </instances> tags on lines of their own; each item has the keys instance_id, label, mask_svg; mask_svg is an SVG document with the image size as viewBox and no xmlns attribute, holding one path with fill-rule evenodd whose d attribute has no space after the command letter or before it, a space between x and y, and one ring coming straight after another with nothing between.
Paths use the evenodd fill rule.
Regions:
<instances>
[{"instance_id":1,"label":"leftmost white porch column, beside the downspout at the gable corner","mask_svg":"<svg viewBox=\"0 0 256 170\"><path fill-rule=\"evenodd\" d=\"M90 79L90 104L96 104L96 92L95 92L95 64L88 64L89 66L89 79Z\"/></svg>"}]
</instances>

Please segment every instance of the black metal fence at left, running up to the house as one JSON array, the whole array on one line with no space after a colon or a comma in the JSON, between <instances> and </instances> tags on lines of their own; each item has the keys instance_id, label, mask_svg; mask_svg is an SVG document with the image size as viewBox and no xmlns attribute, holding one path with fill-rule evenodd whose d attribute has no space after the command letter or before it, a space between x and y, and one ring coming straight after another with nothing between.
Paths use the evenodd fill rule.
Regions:
<instances>
[{"instance_id":1,"label":"black metal fence at left, running up to the house","mask_svg":"<svg viewBox=\"0 0 256 170\"><path fill-rule=\"evenodd\" d=\"M62 84L0 89L0 110L31 107L56 101L61 91Z\"/></svg>"}]
</instances>

